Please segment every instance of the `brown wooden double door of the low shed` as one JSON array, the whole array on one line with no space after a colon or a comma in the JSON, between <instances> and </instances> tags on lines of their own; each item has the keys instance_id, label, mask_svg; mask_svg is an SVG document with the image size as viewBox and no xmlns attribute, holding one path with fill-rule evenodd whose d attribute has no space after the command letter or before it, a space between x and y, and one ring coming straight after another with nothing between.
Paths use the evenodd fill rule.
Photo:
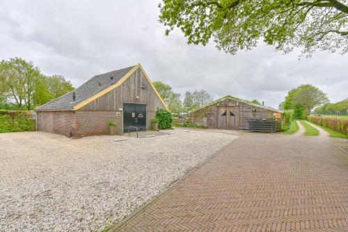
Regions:
<instances>
[{"instance_id":1,"label":"brown wooden double door of the low shed","mask_svg":"<svg viewBox=\"0 0 348 232\"><path fill-rule=\"evenodd\" d=\"M218 107L217 113L219 129L239 130L239 107Z\"/></svg>"}]
</instances>

